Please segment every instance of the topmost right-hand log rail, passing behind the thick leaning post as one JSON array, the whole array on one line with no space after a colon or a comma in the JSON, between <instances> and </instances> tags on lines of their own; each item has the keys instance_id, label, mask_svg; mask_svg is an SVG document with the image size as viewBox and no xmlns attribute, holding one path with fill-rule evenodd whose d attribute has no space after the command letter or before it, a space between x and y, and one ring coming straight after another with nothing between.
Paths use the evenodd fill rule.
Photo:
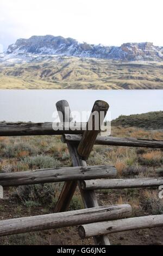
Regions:
<instances>
[{"instance_id":1,"label":"topmost right-hand log rail, passing behind the thick leaning post","mask_svg":"<svg viewBox=\"0 0 163 256\"><path fill-rule=\"evenodd\" d=\"M63 135L62 142L65 143L80 143L82 135ZM156 139L139 139L139 138L119 138L110 136L98 136L95 144L97 145L112 145L124 147L144 147L144 148L163 148L163 141Z\"/></svg>"}]
</instances>

